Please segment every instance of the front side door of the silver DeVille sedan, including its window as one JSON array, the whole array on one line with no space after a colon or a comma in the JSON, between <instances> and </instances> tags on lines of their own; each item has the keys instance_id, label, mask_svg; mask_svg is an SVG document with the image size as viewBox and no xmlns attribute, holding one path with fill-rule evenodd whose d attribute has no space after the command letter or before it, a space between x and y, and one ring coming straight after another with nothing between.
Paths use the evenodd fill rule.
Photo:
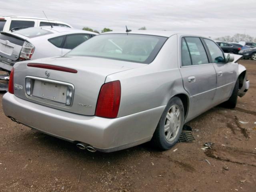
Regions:
<instances>
[{"instance_id":1,"label":"front side door of the silver DeVille sedan, including its window","mask_svg":"<svg viewBox=\"0 0 256 192\"><path fill-rule=\"evenodd\" d=\"M203 41L206 44L208 53L211 56L210 59L216 70L217 85L214 102L221 103L227 100L232 94L236 82L238 64L232 62L226 63L224 53L214 41L205 38Z\"/></svg>"}]
</instances>

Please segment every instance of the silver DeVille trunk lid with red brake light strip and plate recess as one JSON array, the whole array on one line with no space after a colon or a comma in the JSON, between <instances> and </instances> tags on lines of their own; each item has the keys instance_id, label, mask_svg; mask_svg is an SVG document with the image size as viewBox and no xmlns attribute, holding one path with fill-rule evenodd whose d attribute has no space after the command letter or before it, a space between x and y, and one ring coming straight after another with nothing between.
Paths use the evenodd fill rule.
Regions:
<instances>
[{"instance_id":1,"label":"silver DeVille trunk lid with red brake light strip and plate recess","mask_svg":"<svg viewBox=\"0 0 256 192\"><path fill-rule=\"evenodd\" d=\"M41 68L36 64L47 67ZM108 75L145 65L93 57L55 57L19 62L15 65L14 94L44 106L94 115L100 88ZM73 72L65 71L67 69ZM28 86L30 93L26 91Z\"/></svg>"}]
</instances>

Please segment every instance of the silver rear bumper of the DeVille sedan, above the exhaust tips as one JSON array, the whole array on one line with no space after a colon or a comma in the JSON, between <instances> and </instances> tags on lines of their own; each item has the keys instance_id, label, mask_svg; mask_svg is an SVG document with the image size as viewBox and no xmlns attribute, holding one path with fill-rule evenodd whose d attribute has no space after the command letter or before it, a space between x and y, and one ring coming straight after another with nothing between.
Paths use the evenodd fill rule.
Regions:
<instances>
[{"instance_id":1,"label":"silver rear bumper of the DeVille sedan, above the exhaust tips","mask_svg":"<svg viewBox=\"0 0 256 192\"><path fill-rule=\"evenodd\" d=\"M160 106L108 119L49 108L10 93L3 96L2 105L6 116L26 126L70 142L90 144L102 152L122 150L149 141L165 108Z\"/></svg>"}]
</instances>

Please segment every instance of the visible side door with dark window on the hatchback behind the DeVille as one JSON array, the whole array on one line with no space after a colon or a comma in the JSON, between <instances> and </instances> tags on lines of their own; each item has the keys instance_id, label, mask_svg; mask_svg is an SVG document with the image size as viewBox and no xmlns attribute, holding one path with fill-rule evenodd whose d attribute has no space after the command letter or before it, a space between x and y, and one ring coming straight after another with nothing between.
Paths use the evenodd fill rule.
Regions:
<instances>
[{"instance_id":1,"label":"visible side door with dark window on the hatchback behind the DeVille","mask_svg":"<svg viewBox=\"0 0 256 192\"><path fill-rule=\"evenodd\" d=\"M70 34L66 36L66 40L64 42L62 48L62 54L66 54L70 50L74 49L76 46L85 42L90 38L90 34Z\"/></svg>"}]
</instances>

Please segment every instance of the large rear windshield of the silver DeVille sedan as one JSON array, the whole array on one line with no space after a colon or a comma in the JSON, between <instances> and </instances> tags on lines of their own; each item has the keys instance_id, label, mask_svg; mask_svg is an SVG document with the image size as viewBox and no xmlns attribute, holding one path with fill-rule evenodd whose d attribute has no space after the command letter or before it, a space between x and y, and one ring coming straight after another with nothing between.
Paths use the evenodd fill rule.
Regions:
<instances>
[{"instance_id":1,"label":"large rear windshield of the silver DeVille sedan","mask_svg":"<svg viewBox=\"0 0 256 192\"><path fill-rule=\"evenodd\" d=\"M102 34L82 43L66 56L91 56L149 64L166 39L139 34Z\"/></svg>"}]
</instances>

